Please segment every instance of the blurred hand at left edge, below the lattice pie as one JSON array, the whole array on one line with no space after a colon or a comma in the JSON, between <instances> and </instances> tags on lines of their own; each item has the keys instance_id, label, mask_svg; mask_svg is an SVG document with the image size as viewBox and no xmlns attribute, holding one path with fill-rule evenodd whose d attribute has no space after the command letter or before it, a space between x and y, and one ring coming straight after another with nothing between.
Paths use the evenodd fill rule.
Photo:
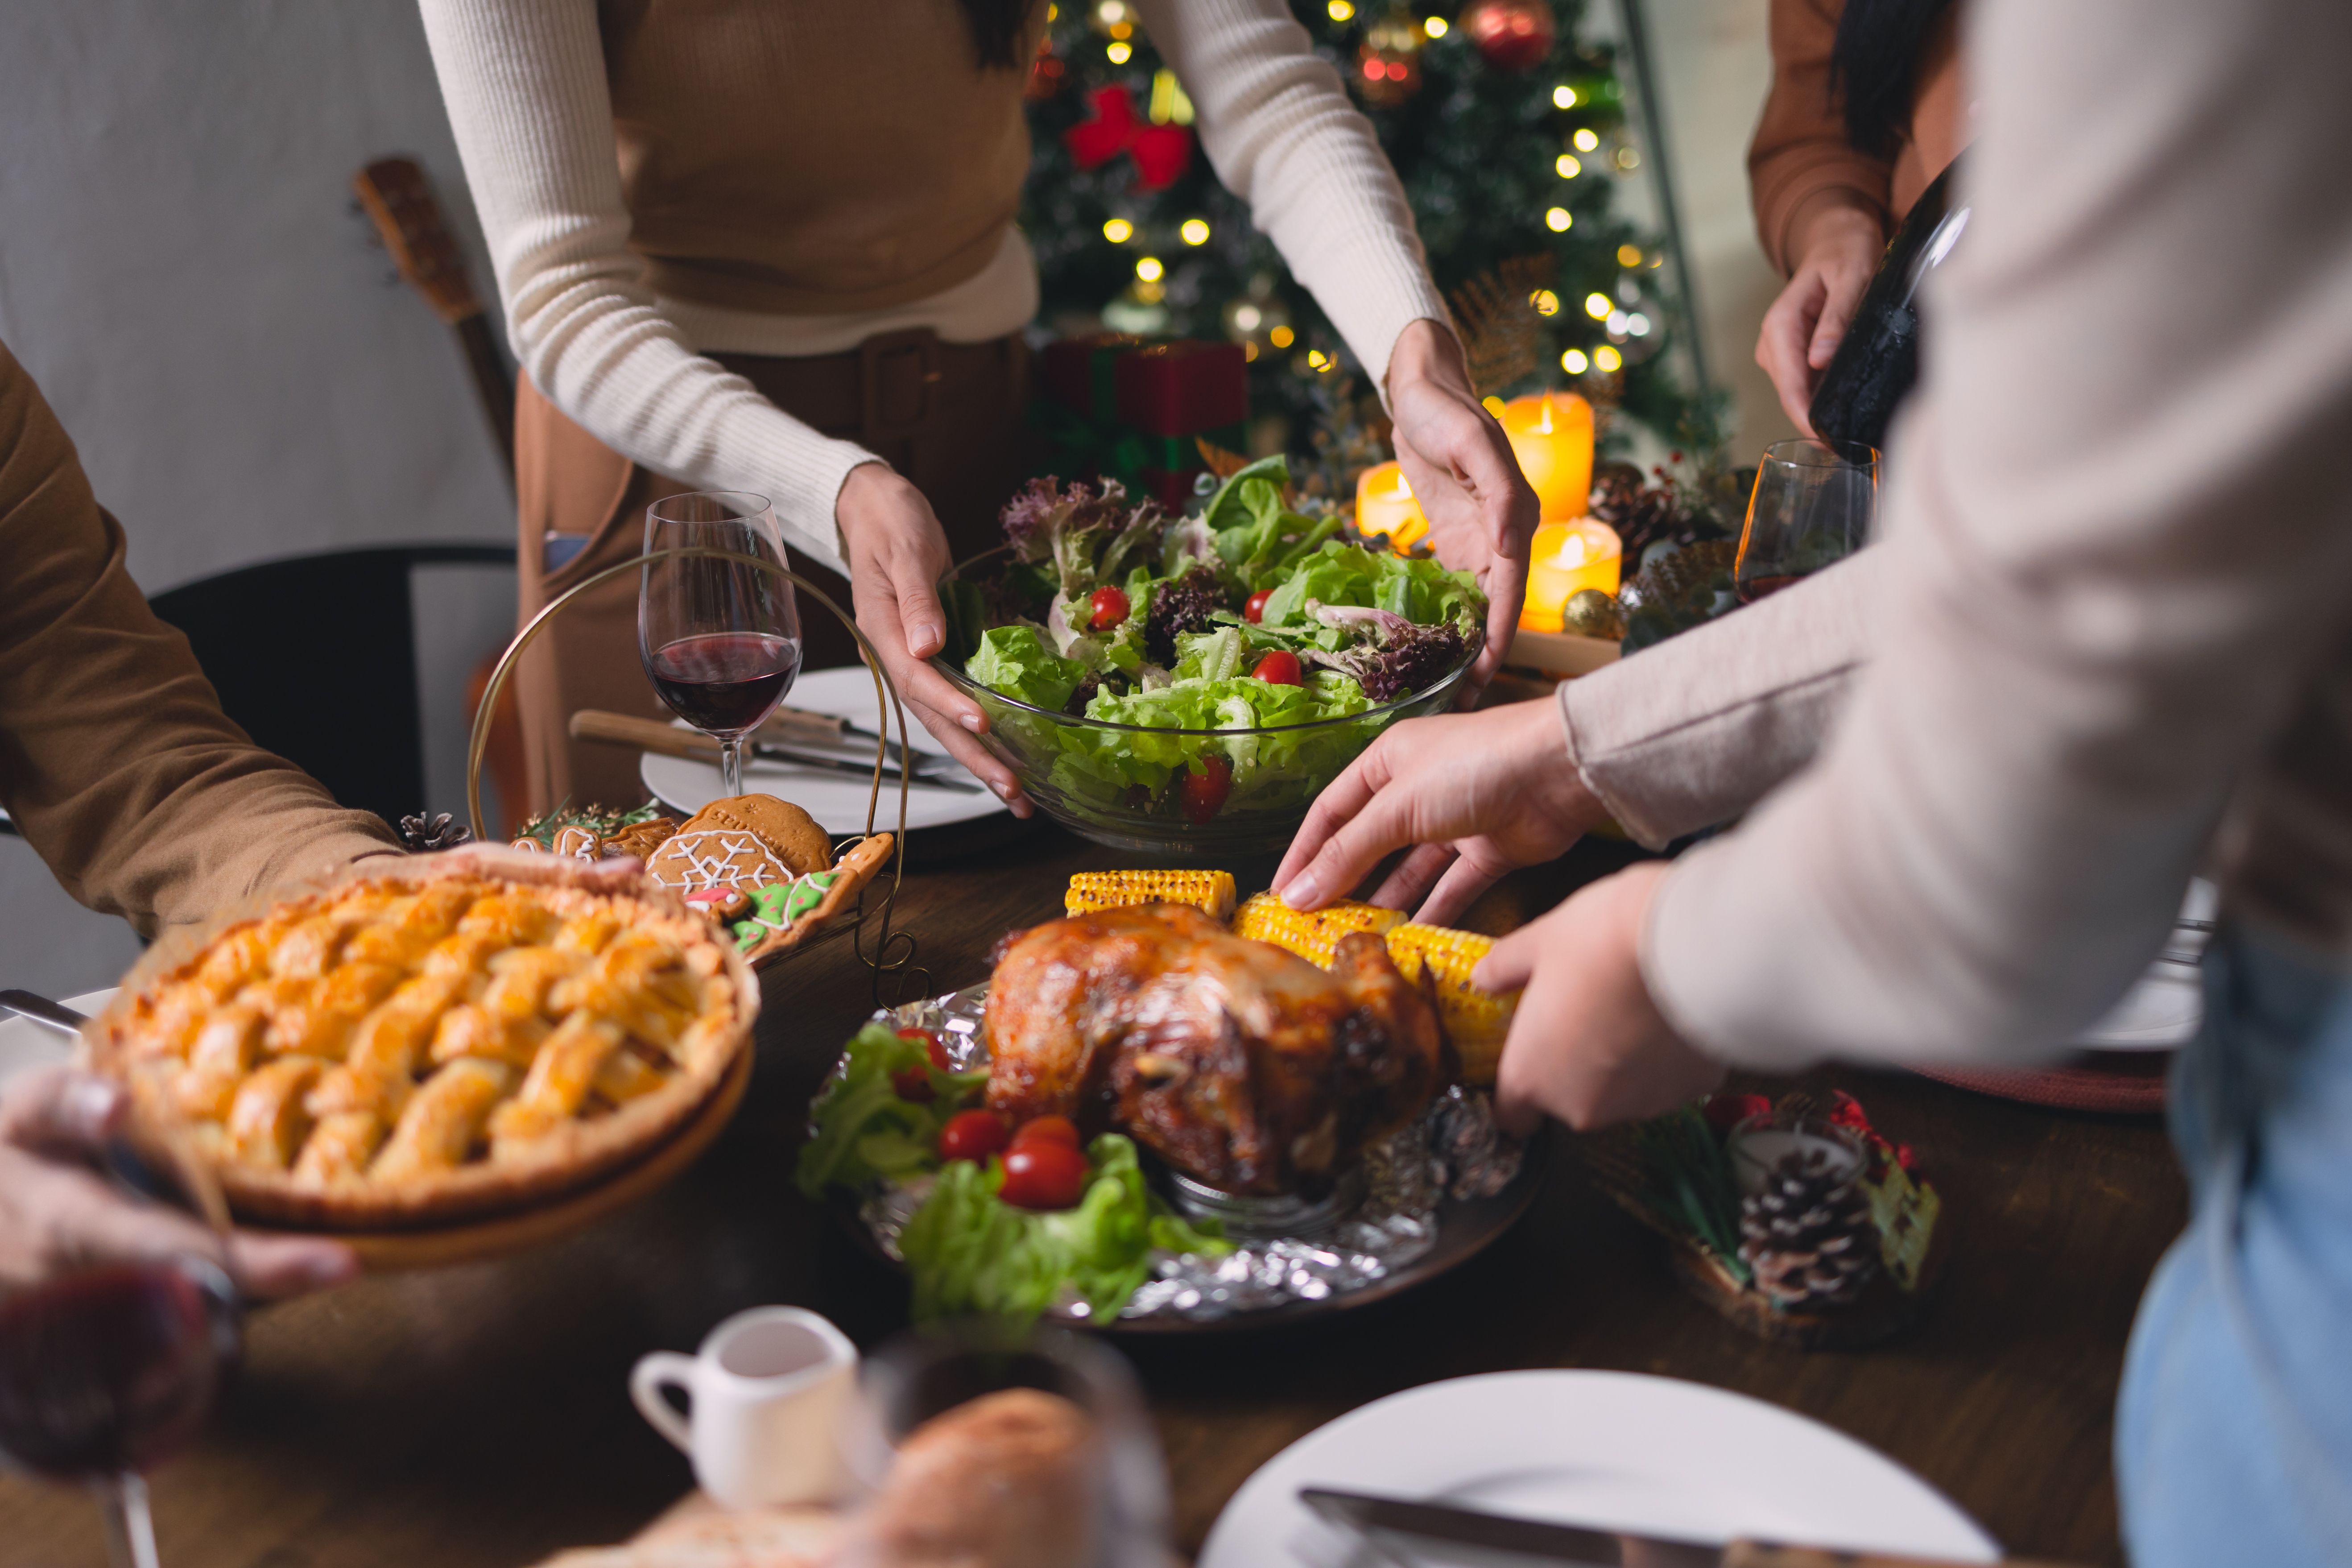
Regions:
<instances>
[{"instance_id":1,"label":"blurred hand at left edge, below the lattice pie","mask_svg":"<svg viewBox=\"0 0 2352 1568\"><path fill-rule=\"evenodd\" d=\"M122 1128L129 1095L73 1067L28 1072L0 1093L0 1284L33 1286L99 1262L219 1255L209 1229L122 1197L92 1161ZM325 1237L228 1237L247 1295L303 1295L358 1279L360 1260Z\"/></svg>"}]
</instances>

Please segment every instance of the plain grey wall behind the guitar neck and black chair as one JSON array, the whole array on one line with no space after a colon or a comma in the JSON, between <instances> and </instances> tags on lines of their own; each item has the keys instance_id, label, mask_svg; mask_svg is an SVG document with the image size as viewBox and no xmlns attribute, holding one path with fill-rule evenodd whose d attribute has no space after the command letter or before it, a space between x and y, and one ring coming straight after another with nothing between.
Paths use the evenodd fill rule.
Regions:
<instances>
[{"instance_id":1,"label":"plain grey wall behind the guitar neck and black chair","mask_svg":"<svg viewBox=\"0 0 2352 1568\"><path fill-rule=\"evenodd\" d=\"M409 0L0 7L0 339L148 592L336 545L513 538L463 360L350 214L353 172L388 153L426 165L489 292ZM508 630L513 585L419 592L428 792L461 811L461 672ZM0 985L106 985L129 952L0 839Z\"/></svg>"}]
</instances>

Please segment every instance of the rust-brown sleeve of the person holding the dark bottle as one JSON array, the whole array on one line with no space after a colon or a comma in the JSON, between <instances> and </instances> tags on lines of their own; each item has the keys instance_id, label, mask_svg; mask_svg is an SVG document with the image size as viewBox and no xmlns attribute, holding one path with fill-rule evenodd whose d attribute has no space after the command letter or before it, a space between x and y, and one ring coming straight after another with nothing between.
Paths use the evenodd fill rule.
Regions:
<instances>
[{"instance_id":1,"label":"rust-brown sleeve of the person holding the dark bottle","mask_svg":"<svg viewBox=\"0 0 2352 1568\"><path fill-rule=\"evenodd\" d=\"M1844 0L1771 0L1771 96L1748 143L1757 240L1780 275L1797 270L1790 233L1809 207L1839 200L1886 226L1891 167L1853 150L1830 94L1830 47Z\"/></svg>"}]
</instances>

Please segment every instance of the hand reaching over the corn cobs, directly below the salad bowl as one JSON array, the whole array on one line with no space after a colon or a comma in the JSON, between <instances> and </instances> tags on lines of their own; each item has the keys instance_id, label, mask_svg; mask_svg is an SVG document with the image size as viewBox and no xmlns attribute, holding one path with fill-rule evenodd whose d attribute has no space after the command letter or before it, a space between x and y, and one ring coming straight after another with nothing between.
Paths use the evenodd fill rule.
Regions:
<instances>
[{"instance_id":1,"label":"hand reaching over the corn cobs, directly below the salad bowl","mask_svg":"<svg viewBox=\"0 0 2352 1568\"><path fill-rule=\"evenodd\" d=\"M1552 703L1411 719L1383 731L1308 809L1275 891L1294 910L1345 896L1390 851L1418 844L1374 903L1421 919L1468 910L1496 877L1566 853L1604 818L1569 762Z\"/></svg>"}]
</instances>

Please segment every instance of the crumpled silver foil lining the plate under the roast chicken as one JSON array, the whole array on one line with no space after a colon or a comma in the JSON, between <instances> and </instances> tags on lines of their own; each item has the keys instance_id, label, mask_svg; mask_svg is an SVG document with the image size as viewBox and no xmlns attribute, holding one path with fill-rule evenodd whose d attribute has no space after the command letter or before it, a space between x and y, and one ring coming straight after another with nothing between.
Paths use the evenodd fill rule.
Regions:
<instances>
[{"instance_id":1,"label":"crumpled silver foil lining the plate under the roast chicken","mask_svg":"<svg viewBox=\"0 0 2352 1568\"><path fill-rule=\"evenodd\" d=\"M988 1063L981 1013L988 985L877 1013L896 1027L936 1030L957 1067ZM1145 1150L1145 1168L1155 1161ZM1094 1319L1084 1302L1047 1312L1065 1328L1117 1335L1275 1328L1369 1307L1461 1267L1510 1229L1543 1187L1545 1143L1517 1145L1494 1128L1484 1093L1454 1088L1411 1128L1383 1140L1336 1201L1237 1199L1157 1168L1155 1187L1185 1215L1214 1215L1235 1251L1162 1255L1127 1309ZM882 1192L837 1213L875 1255L903 1267L896 1234L920 1194Z\"/></svg>"}]
</instances>

